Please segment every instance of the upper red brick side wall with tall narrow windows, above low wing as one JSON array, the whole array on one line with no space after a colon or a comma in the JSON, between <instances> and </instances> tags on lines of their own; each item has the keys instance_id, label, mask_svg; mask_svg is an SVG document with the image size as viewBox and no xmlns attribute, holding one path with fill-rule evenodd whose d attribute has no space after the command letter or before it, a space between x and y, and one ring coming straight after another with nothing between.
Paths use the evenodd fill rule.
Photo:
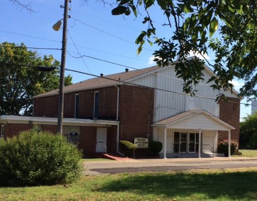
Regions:
<instances>
[{"instance_id":1,"label":"upper red brick side wall with tall narrow windows, above low wing","mask_svg":"<svg viewBox=\"0 0 257 201\"><path fill-rule=\"evenodd\" d=\"M98 118L116 117L117 88L114 86L84 90L65 94L63 117L75 117L75 95L79 94L79 118L93 118L94 92L99 91ZM34 116L58 116L58 95L34 100Z\"/></svg>"}]
</instances>

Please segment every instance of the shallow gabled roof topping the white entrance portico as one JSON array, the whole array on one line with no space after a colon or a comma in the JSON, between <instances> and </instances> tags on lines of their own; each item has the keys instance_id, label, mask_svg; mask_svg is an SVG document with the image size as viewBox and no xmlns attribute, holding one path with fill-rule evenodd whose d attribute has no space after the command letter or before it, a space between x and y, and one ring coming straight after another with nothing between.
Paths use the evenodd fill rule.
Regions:
<instances>
[{"instance_id":1,"label":"shallow gabled roof topping the white entrance portico","mask_svg":"<svg viewBox=\"0 0 257 201\"><path fill-rule=\"evenodd\" d=\"M152 124L152 126L174 129L202 129L230 131L233 126L207 112L206 110L188 110Z\"/></svg>"}]
</instances>

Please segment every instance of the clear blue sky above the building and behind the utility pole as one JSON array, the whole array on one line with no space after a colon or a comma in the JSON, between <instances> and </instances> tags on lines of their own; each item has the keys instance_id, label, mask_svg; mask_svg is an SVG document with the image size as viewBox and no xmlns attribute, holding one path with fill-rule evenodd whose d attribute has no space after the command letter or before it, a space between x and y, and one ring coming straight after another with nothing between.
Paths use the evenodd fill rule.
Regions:
<instances>
[{"instance_id":1,"label":"clear blue sky above the building and behind the utility pole","mask_svg":"<svg viewBox=\"0 0 257 201\"><path fill-rule=\"evenodd\" d=\"M60 5L64 5L63 0L20 0L20 3L28 4L31 2L31 9L35 13L29 13L25 9L17 7L9 2L9 0L2 1L1 28L0 28L0 43L9 42L20 44L24 43L27 47L39 48L59 48L61 49L62 30L54 31L53 24L63 18L63 9ZM141 54L137 57L137 46L135 40L140 34L140 31L147 28L147 24L142 24L143 18L146 14L142 11L142 16L135 18L134 15L126 16L112 16L111 8L108 4L103 4L100 1L95 2L88 0L84 5L82 0L72 1L69 7L72 11L69 12L71 19L68 22L68 29L71 37L81 55L99 58L115 62L118 64L131 66L134 68L145 68L153 66L154 63L149 62L152 58L152 53L157 50L157 46L151 47L147 42ZM170 33L173 31L168 26L163 26L166 18L163 11L159 7L152 7L149 9L152 13L152 20L155 21L156 37L169 38ZM78 19L85 24L76 21ZM87 24L87 25L86 25ZM174 27L172 22L172 27ZM30 35L40 38L46 38L53 41L44 39L27 37L7 32L13 32L23 35ZM218 37L218 35L216 35ZM73 44L72 39L68 34L68 43ZM215 34L214 34L215 37ZM153 39L152 39L153 41ZM75 46L68 45L68 52L75 57L78 57ZM61 51L59 50L38 50L40 55L52 54L55 59L60 61ZM214 55L209 52L209 61L212 62ZM82 59L72 58L67 54L66 67L83 72L104 75L124 71L125 67L116 66L113 64L105 63L102 61L84 57ZM73 83L83 81L91 78L91 76L79 73L72 74ZM233 81L235 89L238 90L243 83L241 81ZM241 101L246 103L245 100ZM241 104L240 117L244 117L246 113L250 113L250 106L245 107ZM242 119L241 119L242 120Z\"/></svg>"}]
</instances>

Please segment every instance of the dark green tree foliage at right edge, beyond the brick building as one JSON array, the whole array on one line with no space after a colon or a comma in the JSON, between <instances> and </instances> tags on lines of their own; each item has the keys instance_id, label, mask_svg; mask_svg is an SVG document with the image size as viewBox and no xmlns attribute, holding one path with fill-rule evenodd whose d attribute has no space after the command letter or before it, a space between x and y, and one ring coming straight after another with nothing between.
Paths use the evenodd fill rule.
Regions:
<instances>
[{"instance_id":1,"label":"dark green tree foliage at right edge, beyond the brick building","mask_svg":"<svg viewBox=\"0 0 257 201\"><path fill-rule=\"evenodd\" d=\"M257 112L240 122L240 148L257 149Z\"/></svg>"}]
</instances>

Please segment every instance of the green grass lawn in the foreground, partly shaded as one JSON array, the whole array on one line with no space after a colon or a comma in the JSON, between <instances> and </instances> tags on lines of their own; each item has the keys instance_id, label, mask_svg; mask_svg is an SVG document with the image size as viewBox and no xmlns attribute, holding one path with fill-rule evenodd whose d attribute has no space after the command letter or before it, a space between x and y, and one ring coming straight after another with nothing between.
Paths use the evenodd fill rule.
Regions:
<instances>
[{"instance_id":1,"label":"green grass lawn in the foreground, partly shaded","mask_svg":"<svg viewBox=\"0 0 257 201\"><path fill-rule=\"evenodd\" d=\"M0 188L0 200L256 200L257 168L83 177L73 184Z\"/></svg>"}]
</instances>

